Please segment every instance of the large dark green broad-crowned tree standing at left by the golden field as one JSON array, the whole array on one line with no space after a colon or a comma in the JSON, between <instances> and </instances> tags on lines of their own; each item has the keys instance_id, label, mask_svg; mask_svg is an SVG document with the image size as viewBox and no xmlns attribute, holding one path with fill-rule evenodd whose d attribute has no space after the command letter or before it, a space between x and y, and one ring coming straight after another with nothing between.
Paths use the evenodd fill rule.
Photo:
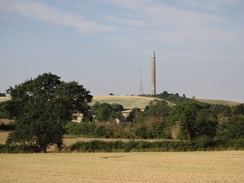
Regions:
<instances>
[{"instance_id":1,"label":"large dark green broad-crowned tree standing at left by the golden field","mask_svg":"<svg viewBox=\"0 0 244 183\"><path fill-rule=\"evenodd\" d=\"M62 147L64 125L75 118L74 114L86 114L92 100L82 85L61 81L51 73L10 87L7 93L11 100L6 109L16 120L16 130L9 135L8 143L36 145L44 152L53 144Z\"/></svg>"}]
</instances>

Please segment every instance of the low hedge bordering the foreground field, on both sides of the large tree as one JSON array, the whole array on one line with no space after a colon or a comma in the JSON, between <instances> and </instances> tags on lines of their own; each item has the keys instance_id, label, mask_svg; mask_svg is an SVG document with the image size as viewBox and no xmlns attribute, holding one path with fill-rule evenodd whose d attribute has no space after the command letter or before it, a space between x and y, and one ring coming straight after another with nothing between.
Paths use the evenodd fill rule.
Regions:
<instances>
[{"instance_id":1,"label":"low hedge bordering the foreground field, on both sides of the large tree","mask_svg":"<svg viewBox=\"0 0 244 183\"><path fill-rule=\"evenodd\" d=\"M65 149L65 152L181 152L181 151L220 151L220 150L244 150L244 139L213 140L211 143L197 141L101 141L77 142ZM0 153L35 153L39 152L32 145L0 145Z\"/></svg>"}]
</instances>

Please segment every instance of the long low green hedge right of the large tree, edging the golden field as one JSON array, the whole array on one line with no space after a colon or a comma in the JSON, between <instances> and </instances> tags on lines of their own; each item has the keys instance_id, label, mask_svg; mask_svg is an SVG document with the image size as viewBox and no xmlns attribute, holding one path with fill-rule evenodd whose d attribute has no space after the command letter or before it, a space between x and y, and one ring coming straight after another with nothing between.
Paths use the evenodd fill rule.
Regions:
<instances>
[{"instance_id":1,"label":"long low green hedge right of the large tree, edging the golden field","mask_svg":"<svg viewBox=\"0 0 244 183\"><path fill-rule=\"evenodd\" d=\"M71 146L71 151L78 152L176 152L200 150L243 150L244 140L228 142L214 141L208 136L201 136L194 144L187 141L90 141L77 142Z\"/></svg>"}]
</instances>

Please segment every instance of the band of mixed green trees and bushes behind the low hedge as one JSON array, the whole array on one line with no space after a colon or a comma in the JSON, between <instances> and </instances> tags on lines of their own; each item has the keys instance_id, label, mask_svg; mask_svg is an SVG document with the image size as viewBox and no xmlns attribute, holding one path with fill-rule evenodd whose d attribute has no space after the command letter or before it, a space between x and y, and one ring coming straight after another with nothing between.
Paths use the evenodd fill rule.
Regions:
<instances>
[{"instance_id":1,"label":"band of mixed green trees and bushes behind the low hedge","mask_svg":"<svg viewBox=\"0 0 244 183\"><path fill-rule=\"evenodd\" d=\"M116 112L108 107L110 104L96 105L92 113L101 116L89 123L68 123L69 134L96 138L179 139L206 144L216 139L225 142L244 139L244 104L230 107L188 100L170 106L165 101L153 100L144 111L134 108L127 122L121 124L113 120L113 117L121 117L120 110ZM109 110L101 112L104 107L99 106Z\"/></svg>"}]
</instances>

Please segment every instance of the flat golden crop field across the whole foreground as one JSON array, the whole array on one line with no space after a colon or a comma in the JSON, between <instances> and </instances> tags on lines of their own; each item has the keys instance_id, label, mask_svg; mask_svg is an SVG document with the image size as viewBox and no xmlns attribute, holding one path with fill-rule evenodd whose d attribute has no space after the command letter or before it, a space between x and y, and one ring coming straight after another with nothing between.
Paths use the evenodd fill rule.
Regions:
<instances>
[{"instance_id":1,"label":"flat golden crop field across the whole foreground","mask_svg":"<svg viewBox=\"0 0 244 183\"><path fill-rule=\"evenodd\" d=\"M0 154L0 182L244 182L244 151Z\"/></svg>"}]
</instances>

